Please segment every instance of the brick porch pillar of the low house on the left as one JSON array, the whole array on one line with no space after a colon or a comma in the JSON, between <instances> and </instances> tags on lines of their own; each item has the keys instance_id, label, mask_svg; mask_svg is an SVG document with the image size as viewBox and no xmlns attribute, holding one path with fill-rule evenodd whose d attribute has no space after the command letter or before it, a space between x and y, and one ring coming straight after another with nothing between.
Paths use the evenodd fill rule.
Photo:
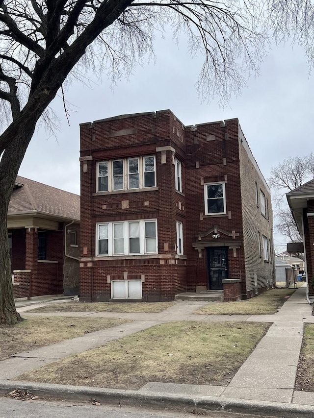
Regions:
<instances>
[{"instance_id":1,"label":"brick porch pillar of the low house on the left","mask_svg":"<svg viewBox=\"0 0 314 418\"><path fill-rule=\"evenodd\" d=\"M30 296L37 295L38 288L38 234L36 228L26 228L25 270L30 270Z\"/></svg>"}]
</instances>

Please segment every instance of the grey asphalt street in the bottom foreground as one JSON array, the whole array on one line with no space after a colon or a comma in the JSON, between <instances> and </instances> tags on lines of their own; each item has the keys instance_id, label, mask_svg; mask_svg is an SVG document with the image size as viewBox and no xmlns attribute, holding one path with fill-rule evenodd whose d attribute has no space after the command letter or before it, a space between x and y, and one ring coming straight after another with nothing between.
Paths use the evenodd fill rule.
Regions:
<instances>
[{"instance_id":1,"label":"grey asphalt street in the bottom foreground","mask_svg":"<svg viewBox=\"0 0 314 418\"><path fill-rule=\"evenodd\" d=\"M57 402L44 400L16 400L0 397L0 418L261 418L256 415L221 412L191 411L166 412L141 408L119 408L90 403ZM276 417L277 418L277 417Z\"/></svg>"}]
</instances>

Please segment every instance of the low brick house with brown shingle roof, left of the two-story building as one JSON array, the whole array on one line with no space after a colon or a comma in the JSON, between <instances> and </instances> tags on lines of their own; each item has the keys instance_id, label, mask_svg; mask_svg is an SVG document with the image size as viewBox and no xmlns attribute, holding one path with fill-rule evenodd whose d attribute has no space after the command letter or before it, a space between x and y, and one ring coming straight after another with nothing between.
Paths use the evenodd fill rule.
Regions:
<instances>
[{"instance_id":1,"label":"low brick house with brown shingle roof, left of the two-story building","mask_svg":"<svg viewBox=\"0 0 314 418\"><path fill-rule=\"evenodd\" d=\"M78 195L16 178L7 217L15 298L78 294L79 204Z\"/></svg>"}]
</instances>

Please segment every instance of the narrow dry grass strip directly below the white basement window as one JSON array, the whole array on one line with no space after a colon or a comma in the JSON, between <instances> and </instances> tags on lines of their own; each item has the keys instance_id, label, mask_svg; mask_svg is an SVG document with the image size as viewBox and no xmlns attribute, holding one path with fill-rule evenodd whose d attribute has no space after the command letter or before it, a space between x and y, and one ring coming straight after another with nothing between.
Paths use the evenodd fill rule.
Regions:
<instances>
[{"instance_id":1,"label":"narrow dry grass strip directly below the white basement window","mask_svg":"<svg viewBox=\"0 0 314 418\"><path fill-rule=\"evenodd\" d=\"M122 312L158 313L173 302L62 302L31 309L27 312Z\"/></svg>"}]
</instances>

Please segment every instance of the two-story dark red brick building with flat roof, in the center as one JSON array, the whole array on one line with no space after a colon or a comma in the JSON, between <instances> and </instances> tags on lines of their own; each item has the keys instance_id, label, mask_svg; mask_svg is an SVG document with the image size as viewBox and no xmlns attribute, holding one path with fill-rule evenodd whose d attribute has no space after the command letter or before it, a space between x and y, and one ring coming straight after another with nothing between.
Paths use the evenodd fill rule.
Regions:
<instances>
[{"instance_id":1,"label":"two-story dark red brick building with flat roof, in the center","mask_svg":"<svg viewBox=\"0 0 314 418\"><path fill-rule=\"evenodd\" d=\"M80 300L273 286L270 191L237 119L122 115L82 123L80 144Z\"/></svg>"}]
</instances>

